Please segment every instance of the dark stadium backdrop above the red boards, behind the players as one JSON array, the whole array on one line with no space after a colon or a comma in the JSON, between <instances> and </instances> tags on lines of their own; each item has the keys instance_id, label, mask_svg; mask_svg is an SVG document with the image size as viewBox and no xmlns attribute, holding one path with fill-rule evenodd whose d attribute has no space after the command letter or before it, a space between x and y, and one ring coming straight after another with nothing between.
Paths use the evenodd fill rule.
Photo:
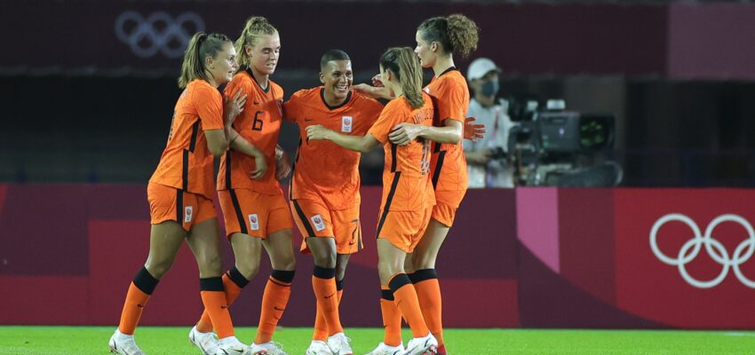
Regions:
<instances>
[{"instance_id":1,"label":"dark stadium backdrop above the red boards, behind the players","mask_svg":"<svg viewBox=\"0 0 755 355\"><path fill-rule=\"evenodd\" d=\"M287 98L319 84L323 51L347 51L354 82L366 82L385 48L414 45L421 20L462 12L481 28L471 59L503 69L502 96L531 92L616 115L609 155L623 185L755 185L755 5L664 1L2 2L0 181L146 183L180 59L142 58L118 39L116 19L129 11L194 12L231 37L250 15L266 16L282 36L272 79ZM457 58L464 73L468 62ZM284 127L282 146L292 153L297 139ZM379 184L373 155L362 179Z\"/></svg>"}]
</instances>

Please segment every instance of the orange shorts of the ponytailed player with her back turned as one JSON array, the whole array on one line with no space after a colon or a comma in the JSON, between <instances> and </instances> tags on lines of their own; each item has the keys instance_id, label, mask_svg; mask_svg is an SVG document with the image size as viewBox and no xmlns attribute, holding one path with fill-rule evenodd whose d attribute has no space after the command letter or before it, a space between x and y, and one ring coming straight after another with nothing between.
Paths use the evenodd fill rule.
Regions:
<instances>
[{"instance_id":1,"label":"orange shorts of the ponytailed player with her back turned","mask_svg":"<svg viewBox=\"0 0 755 355\"><path fill-rule=\"evenodd\" d=\"M425 234L433 207L420 211L380 210L377 222L377 238L390 241L393 246L411 253Z\"/></svg>"}]
</instances>

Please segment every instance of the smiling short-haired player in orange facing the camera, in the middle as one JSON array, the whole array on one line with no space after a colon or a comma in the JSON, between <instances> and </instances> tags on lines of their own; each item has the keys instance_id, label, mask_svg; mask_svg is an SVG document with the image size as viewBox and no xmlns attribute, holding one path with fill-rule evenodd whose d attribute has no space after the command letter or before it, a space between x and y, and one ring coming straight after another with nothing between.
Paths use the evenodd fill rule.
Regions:
<instances>
[{"instance_id":1,"label":"smiling short-haired player in orange facing the camera, in the middle","mask_svg":"<svg viewBox=\"0 0 755 355\"><path fill-rule=\"evenodd\" d=\"M325 52L320 60L322 86L297 91L283 105L284 119L301 132L291 212L305 236L301 248L314 257L312 286L317 299L312 343L307 355L351 354L338 315L349 256L362 250L360 155L327 141L306 139L306 127L322 124L346 135L364 136L383 105L352 91L351 59L344 51ZM324 157L327 157L324 158ZM336 294L335 297L331 296Z\"/></svg>"}]
</instances>

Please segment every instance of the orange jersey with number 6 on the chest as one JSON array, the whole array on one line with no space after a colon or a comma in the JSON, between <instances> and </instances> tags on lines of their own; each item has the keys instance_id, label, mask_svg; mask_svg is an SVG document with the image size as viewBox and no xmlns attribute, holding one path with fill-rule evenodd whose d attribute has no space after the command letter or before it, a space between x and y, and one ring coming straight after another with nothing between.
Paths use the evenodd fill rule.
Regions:
<instances>
[{"instance_id":1,"label":"orange jersey with number 6 on the chest","mask_svg":"<svg viewBox=\"0 0 755 355\"><path fill-rule=\"evenodd\" d=\"M269 80L267 90L262 89L249 69L234 75L224 93L230 99L240 88L248 96L243 112L234 121L234 130L265 154L267 172L264 177L252 180L249 173L257 169L254 158L229 148L220 158L218 190L242 188L258 193L282 193L275 178L275 146L281 131L283 89Z\"/></svg>"}]
</instances>

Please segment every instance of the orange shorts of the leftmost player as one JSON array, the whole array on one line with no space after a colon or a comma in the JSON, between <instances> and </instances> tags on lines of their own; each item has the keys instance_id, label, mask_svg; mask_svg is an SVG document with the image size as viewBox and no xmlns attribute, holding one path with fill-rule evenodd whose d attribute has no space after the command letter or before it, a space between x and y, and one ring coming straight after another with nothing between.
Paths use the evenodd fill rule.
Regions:
<instances>
[{"instance_id":1,"label":"orange shorts of the leftmost player","mask_svg":"<svg viewBox=\"0 0 755 355\"><path fill-rule=\"evenodd\" d=\"M151 217L149 223L153 225L176 221L190 231L192 226L218 217L212 200L171 186L148 184L147 201Z\"/></svg>"}]
</instances>

